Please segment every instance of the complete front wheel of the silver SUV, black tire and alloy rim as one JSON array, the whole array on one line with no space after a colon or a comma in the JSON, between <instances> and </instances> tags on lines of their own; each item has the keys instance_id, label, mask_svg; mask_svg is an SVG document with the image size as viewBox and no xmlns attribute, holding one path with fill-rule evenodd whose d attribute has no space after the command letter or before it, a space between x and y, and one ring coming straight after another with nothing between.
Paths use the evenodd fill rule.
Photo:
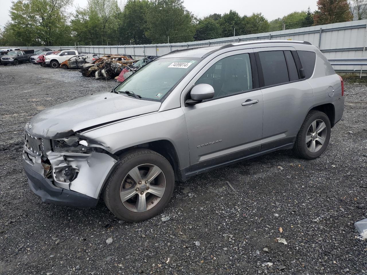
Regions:
<instances>
[{"instance_id":1,"label":"complete front wheel of the silver SUV, black tire and alloy rim","mask_svg":"<svg viewBox=\"0 0 367 275\"><path fill-rule=\"evenodd\" d=\"M108 209L129 223L148 220L159 214L167 206L174 190L175 177L170 163L148 149L130 151L120 159L103 190L103 200ZM139 173L134 173L137 171ZM147 183L148 177L151 180ZM159 196L154 195L155 191Z\"/></svg>"}]
</instances>

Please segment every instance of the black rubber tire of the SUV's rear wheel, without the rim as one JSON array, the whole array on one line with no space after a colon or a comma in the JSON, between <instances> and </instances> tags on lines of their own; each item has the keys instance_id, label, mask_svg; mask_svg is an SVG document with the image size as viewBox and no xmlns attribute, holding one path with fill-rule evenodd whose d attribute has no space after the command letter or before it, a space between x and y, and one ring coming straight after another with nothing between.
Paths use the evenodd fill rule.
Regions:
<instances>
[{"instance_id":1,"label":"black rubber tire of the SUV's rear wheel, without the rim","mask_svg":"<svg viewBox=\"0 0 367 275\"><path fill-rule=\"evenodd\" d=\"M307 146L306 146L306 134L308 132L308 129L310 128L310 125L312 124L313 121L315 120L322 120L325 122L326 124L326 129L327 129L327 133L326 133L326 139L325 142L323 144L323 147L321 147L321 149L315 153L312 153L308 150ZM298 137L298 150L299 153L302 155L302 157L308 158L308 159L314 159L314 158L318 158L320 157L320 155L322 153L324 153L327 145L329 144L329 140L330 140L330 134L331 134L331 125L330 125L330 120L328 118L328 116L320 111L315 112L313 115L311 115L310 117L308 117L306 123L305 123L305 127L303 128L303 131L299 132L299 137Z\"/></svg>"}]
</instances>

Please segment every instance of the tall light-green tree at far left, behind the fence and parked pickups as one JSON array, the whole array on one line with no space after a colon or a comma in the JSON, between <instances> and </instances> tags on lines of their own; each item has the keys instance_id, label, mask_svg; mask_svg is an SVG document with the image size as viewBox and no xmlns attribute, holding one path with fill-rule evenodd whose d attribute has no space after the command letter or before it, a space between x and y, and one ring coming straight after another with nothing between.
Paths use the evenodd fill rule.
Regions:
<instances>
[{"instance_id":1,"label":"tall light-green tree at far left, behind the fence and parked pickups","mask_svg":"<svg viewBox=\"0 0 367 275\"><path fill-rule=\"evenodd\" d=\"M67 8L72 0L18 0L10 8L7 32L23 45L70 43Z\"/></svg>"}]
</instances>

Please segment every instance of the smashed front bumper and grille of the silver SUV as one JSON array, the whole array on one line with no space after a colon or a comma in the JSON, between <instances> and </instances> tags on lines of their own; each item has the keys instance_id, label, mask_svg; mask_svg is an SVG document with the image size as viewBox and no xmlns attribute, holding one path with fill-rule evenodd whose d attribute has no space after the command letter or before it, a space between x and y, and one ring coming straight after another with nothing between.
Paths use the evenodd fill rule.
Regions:
<instances>
[{"instance_id":1,"label":"smashed front bumper and grille of the silver SUV","mask_svg":"<svg viewBox=\"0 0 367 275\"><path fill-rule=\"evenodd\" d=\"M97 205L103 184L118 162L106 153L57 153L49 139L25 132L23 168L43 202L78 208Z\"/></svg>"}]
</instances>

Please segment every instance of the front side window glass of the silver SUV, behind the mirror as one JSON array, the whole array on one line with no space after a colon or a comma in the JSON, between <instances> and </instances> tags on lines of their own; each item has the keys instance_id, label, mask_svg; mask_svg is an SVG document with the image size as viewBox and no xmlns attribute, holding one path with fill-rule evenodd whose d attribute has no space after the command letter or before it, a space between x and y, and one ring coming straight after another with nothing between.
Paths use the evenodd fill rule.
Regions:
<instances>
[{"instance_id":1,"label":"front side window glass of the silver SUV, behind the mirror","mask_svg":"<svg viewBox=\"0 0 367 275\"><path fill-rule=\"evenodd\" d=\"M195 83L209 84L214 88L214 98L228 96L252 89L250 56L227 56L212 65Z\"/></svg>"}]
</instances>

